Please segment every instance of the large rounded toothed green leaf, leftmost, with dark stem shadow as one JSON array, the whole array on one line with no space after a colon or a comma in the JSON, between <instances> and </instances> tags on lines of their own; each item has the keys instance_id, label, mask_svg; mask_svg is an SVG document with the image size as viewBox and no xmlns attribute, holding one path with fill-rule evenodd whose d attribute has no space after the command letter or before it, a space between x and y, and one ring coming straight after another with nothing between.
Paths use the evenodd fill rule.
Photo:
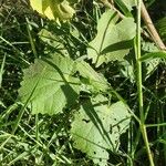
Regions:
<instances>
[{"instance_id":1,"label":"large rounded toothed green leaf, leftmost, with dark stem shadow","mask_svg":"<svg viewBox=\"0 0 166 166\"><path fill-rule=\"evenodd\" d=\"M54 55L52 59L35 60L34 64L24 70L19 96L23 103L30 98L29 107L33 114L58 114L65 106L76 102L80 82L73 77L74 62L70 58Z\"/></svg>"}]
</instances>

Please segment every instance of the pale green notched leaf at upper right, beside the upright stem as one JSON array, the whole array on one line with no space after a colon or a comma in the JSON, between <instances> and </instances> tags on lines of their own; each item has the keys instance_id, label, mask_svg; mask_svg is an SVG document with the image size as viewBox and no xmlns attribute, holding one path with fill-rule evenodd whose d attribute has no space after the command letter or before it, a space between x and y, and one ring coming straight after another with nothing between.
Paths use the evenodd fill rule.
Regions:
<instances>
[{"instance_id":1,"label":"pale green notched leaf at upper right, beside the upright stem","mask_svg":"<svg viewBox=\"0 0 166 166\"><path fill-rule=\"evenodd\" d=\"M110 61L123 60L132 48L136 25L132 18L124 18L117 22L116 13L106 11L97 24L97 34L90 42L87 56L96 66Z\"/></svg>"}]
</instances>

